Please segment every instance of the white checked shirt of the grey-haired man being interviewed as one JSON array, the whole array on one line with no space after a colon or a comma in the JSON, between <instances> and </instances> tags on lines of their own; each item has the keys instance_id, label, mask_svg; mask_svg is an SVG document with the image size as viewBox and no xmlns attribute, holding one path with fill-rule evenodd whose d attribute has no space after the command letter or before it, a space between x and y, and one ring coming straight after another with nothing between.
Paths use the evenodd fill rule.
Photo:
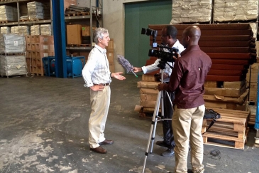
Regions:
<instances>
[{"instance_id":1,"label":"white checked shirt of the grey-haired man being interviewed","mask_svg":"<svg viewBox=\"0 0 259 173\"><path fill-rule=\"evenodd\" d=\"M106 49L96 44L89 53L87 63L82 70L82 76L86 83L84 86L91 87L94 84L111 83L110 74Z\"/></svg>"}]
</instances>

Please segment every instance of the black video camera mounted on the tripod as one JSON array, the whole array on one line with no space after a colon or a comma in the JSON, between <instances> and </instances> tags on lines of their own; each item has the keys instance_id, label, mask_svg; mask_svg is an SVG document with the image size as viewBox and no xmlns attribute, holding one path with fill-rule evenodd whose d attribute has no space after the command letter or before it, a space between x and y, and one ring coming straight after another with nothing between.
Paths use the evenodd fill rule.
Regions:
<instances>
[{"instance_id":1,"label":"black video camera mounted on the tripod","mask_svg":"<svg viewBox=\"0 0 259 173\"><path fill-rule=\"evenodd\" d=\"M160 68L165 68L165 63L166 62L175 62L175 59L172 58L173 56L175 56L177 58L177 53L178 53L178 49L177 48L170 48L165 46L163 43L161 45L159 45L158 43L156 43L156 36L158 36L158 31L153 30L151 28L142 28L141 29L141 34L145 34L147 36L153 36L153 43L152 43L152 48L148 51L148 56L155 56L157 58L159 58L160 61L160 65L158 66ZM157 50L155 48L160 48L160 50Z\"/></svg>"}]
</instances>

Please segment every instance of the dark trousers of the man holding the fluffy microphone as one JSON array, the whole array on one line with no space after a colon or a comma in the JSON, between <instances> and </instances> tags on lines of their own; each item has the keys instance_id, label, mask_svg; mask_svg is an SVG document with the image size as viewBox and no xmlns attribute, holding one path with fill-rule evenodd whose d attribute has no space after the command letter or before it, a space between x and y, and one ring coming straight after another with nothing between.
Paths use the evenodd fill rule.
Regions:
<instances>
[{"instance_id":1,"label":"dark trousers of the man holding the fluffy microphone","mask_svg":"<svg viewBox=\"0 0 259 173\"><path fill-rule=\"evenodd\" d=\"M168 98L168 95L170 98ZM170 100L173 102L175 99L175 93L168 93L163 91L164 96L164 117L166 119L170 120L163 120L162 121L162 132L164 133L164 142L167 145L170 145L171 147L174 147L175 141L174 141L174 135L172 134L172 105L170 103ZM169 100L170 99L170 100Z\"/></svg>"}]
</instances>

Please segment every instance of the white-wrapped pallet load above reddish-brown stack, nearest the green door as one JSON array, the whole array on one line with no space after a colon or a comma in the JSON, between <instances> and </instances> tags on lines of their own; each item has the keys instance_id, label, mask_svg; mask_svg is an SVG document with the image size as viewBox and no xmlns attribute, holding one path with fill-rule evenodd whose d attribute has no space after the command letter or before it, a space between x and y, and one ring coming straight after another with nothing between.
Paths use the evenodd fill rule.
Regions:
<instances>
[{"instance_id":1,"label":"white-wrapped pallet load above reddish-brown stack, nearest the green door","mask_svg":"<svg viewBox=\"0 0 259 173\"><path fill-rule=\"evenodd\" d=\"M170 24L211 21L212 0L173 0Z\"/></svg>"}]
</instances>

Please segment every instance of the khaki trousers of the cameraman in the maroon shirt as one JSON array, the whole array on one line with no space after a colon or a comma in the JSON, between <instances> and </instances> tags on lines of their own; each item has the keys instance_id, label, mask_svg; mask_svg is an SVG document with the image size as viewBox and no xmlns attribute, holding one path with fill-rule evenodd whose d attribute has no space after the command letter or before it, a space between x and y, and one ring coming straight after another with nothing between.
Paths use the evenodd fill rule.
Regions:
<instances>
[{"instance_id":1,"label":"khaki trousers of the cameraman in the maroon shirt","mask_svg":"<svg viewBox=\"0 0 259 173\"><path fill-rule=\"evenodd\" d=\"M189 143L193 172L204 172L202 120L205 106L191 109L177 109L174 106L172 130L175 136L175 172L187 173Z\"/></svg>"}]
</instances>

